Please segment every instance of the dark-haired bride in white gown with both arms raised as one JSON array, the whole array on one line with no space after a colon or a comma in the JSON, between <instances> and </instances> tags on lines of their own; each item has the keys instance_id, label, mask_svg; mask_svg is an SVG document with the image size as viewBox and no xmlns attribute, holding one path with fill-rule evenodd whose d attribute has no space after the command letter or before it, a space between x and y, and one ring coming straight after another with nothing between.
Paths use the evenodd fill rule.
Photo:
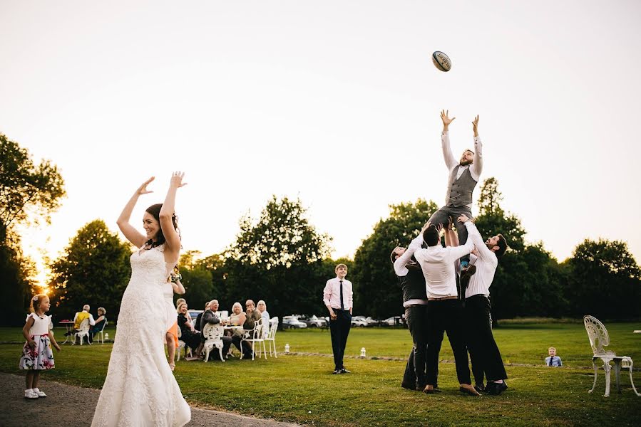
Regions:
<instances>
[{"instance_id":1,"label":"dark-haired bride in white gown with both arms raised","mask_svg":"<svg viewBox=\"0 0 641 427\"><path fill-rule=\"evenodd\" d=\"M131 255L131 279L120 303L116 339L107 378L91 426L184 426L189 405L165 359L163 284L178 263L180 236L174 214L184 173L174 172L163 204L143 215L143 236L130 223L133 207L154 177L135 191L118 218L118 227L138 248Z\"/></svg>"}]
</instances>

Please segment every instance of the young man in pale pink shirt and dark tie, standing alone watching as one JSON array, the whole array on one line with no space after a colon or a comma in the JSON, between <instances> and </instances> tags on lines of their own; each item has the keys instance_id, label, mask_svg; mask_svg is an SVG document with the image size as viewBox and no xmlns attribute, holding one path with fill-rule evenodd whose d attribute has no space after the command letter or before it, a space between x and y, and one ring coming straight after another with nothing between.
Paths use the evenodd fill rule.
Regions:
<instances>
[{"instance_id":1,"label":"young man in pale pink shirt and dark tie, standing alone watching","mask_svg":"<svg viewBox=\"0 0 641 427\"><path fill-rule=\"evenodd\" d=\"M352 327L352 301L354 292L352 282L347 280L347 265L339 264L334 268L336 278L327 280L323 290L323 302L329 310L329 332L332 334L334 352L334 374L349 374L343 365L343 355L347 344L349 328Z\"/></svg>"}]
</instances>

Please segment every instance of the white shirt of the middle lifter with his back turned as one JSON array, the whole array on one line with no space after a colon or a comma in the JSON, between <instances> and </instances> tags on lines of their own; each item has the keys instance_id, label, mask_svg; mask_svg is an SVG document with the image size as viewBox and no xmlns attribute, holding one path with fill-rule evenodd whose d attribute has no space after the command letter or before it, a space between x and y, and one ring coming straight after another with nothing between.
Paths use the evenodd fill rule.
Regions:
<instances>
[{"instance_id":1,"label":"white shirt of the middle lifter with his back turned","mask_svg":"<svg viewBox=\"0 0 641 427\"><path fill-rule=\"evenodd\" d=\"M465 226L470 229L473 226L471 221L466 221ZM463 246L448 246L443 248L441 243L430 246L427 249L419 249L414 252L414 258L419 261L423 275L428 298L456 297L456 270L455 263L458 258L467 255L474 248L472 239Z\"/></svg>"}]
</instances>

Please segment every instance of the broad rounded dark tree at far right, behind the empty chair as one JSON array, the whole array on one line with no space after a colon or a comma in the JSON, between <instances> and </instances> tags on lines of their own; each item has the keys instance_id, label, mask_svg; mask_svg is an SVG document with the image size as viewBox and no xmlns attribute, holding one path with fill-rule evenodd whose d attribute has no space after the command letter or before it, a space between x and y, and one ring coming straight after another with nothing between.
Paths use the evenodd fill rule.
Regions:
<instances>
[{"instance_id":1,"label":"broad rounded dark tree at far right, behind the empty chair","mask_svg":"<svg viewBox=\"0 0 641 427\"><path fill-rule=\"evenodd\" d=\"M575 316L610 319L641 315L641 270L627 243L586 239L566 262L565 297Z\"/></svg>"}]
</instances>

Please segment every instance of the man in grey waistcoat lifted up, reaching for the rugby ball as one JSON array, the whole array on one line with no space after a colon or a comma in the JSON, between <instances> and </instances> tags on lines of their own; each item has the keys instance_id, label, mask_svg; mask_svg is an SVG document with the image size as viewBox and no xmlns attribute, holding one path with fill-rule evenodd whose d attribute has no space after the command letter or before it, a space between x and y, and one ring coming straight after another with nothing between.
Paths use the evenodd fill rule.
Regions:
<instances>
[{"instance_id":1,"label":"man in grey waistcoat lifted up, reaching for the rugby ball","mask_svg":"<svg viewBox=\"0 0 641 427\"><path fill-rule=\"evenodd\" d=\"M436 227L445 227L449 218L457 218L466 215L472 216L472 192L478 183L483 170L483 144L481 137L478 136L478 116L472 122L474 133L474 151L466 149L457 162L452 154L449 139L449 125L456 117L449 118L448 112L441 111L441 120L443 120L443 132L441 132L441 148L443 149L443 159L448 169L448 184L445 196L445 206L434 212L429 218L430 223ZM468 233L465 227L456 227L458 241L461 245L467 242ZM463 277L474 273L473 268L468 269L469 256L463 255L461 258L461 271Z\"/></svg>"}]
</instances>

